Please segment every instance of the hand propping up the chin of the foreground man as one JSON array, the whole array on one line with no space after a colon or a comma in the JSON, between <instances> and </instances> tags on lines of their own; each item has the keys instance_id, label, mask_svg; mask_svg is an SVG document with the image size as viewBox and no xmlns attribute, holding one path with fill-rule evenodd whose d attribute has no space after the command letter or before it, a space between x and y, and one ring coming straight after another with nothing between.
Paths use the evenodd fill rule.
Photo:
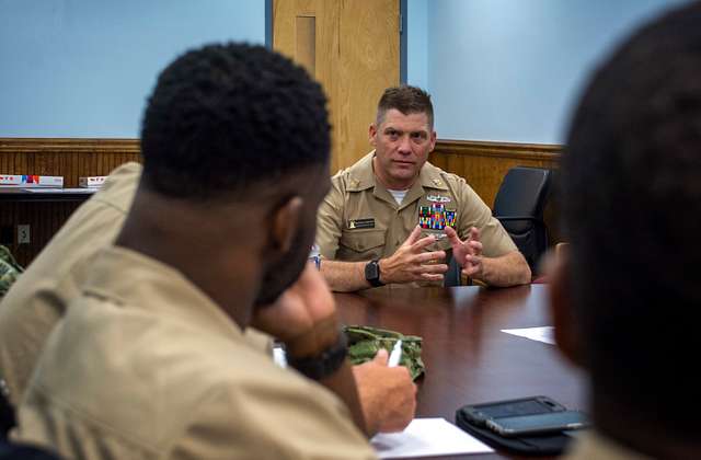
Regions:
<instances>
[{"instance_id":1,"label":"hand propping up the chin of the foreground man","mask_svg":"<svg viewBox=\"0 0 701 460\"><path fill-rule=\"evenodd\" d=\"M251 325L284 342L295 357L323 352L341 333L333 296L313 264L275 303L258 308Z\"/></svg>"}]
</instances>

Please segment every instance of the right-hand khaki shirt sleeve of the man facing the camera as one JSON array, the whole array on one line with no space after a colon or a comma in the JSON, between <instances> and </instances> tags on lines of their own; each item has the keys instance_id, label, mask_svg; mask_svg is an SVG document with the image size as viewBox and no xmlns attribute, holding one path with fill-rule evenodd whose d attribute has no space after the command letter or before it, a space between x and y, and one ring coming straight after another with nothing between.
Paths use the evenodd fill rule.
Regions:
<instances>
[{"instance_id":1,"label":"right-hand khaki shirt sleeve of the man facing the camera","mask_svg":"<svg viewBox=\"0 0 701 460\"><path fill-rule=\"evenodd\" d=\"M464 240L471 227L480 230L482 253L487 257L498 257L513 251L518 251L516 244L504 230L498 219L492 216L490 207L467 184L464 179L457 177L457 193L460 196L460 216L458 217L458 233Z\"/></svg>"}]
</instances>

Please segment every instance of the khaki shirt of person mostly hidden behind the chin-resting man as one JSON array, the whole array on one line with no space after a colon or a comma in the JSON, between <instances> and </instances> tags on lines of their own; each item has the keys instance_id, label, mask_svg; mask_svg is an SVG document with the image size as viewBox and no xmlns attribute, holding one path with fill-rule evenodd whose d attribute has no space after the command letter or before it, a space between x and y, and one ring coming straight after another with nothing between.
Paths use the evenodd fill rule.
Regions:
<instances>
[{"instance_id":1,"label":"khaki shirt of person mostly hidden behind the chin-resting man","mask_svg":"<svg viewBox=\"0 0 701 460\"><path fill-rule=\"evenodd\" d=\"M122 229L141 176L139 163L115 169L82 204L0 301L0 378L18 405L38 354L66 306L80 294L89 258L112 244ZM246 331L265 348L269 337Z\"/></svg>"}]
</instances>

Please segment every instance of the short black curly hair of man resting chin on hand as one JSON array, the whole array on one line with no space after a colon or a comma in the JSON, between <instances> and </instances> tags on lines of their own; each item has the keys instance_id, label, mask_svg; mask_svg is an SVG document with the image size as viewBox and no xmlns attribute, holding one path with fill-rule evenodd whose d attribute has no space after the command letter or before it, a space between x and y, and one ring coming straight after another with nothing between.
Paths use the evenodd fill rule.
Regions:
<instances>
[{"instance_id":1,"label":"short black curly hair of man resting chin on hand","mask_svg":"<svg viewBox=\"0 0 701 460\"><path fill-rule=\"evenodd\" d=\"M209 45L160 74L143 115L143 184L191 200L244 198L252 186L327 162L321 87L262 46Z\"/></svg>"}]
</instances>

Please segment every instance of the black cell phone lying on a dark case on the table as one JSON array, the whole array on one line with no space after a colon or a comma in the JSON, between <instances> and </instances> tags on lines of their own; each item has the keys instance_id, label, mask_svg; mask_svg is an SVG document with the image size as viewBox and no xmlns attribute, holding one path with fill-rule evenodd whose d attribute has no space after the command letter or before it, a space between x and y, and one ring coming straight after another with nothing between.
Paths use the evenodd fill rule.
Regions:
<instances>
[{"instance_id":1,"label":"black cell phone lying on a dark case on the table","mask_svg":"<svg viewBox=\"0 0 701 460\"><path fill-rule=\"evenodd\" d=\"M563 412L566 407L548 396L529 396L467 405L461 411L473 425L486 426L489 419Z\"/></svg>"}]
</instances>

